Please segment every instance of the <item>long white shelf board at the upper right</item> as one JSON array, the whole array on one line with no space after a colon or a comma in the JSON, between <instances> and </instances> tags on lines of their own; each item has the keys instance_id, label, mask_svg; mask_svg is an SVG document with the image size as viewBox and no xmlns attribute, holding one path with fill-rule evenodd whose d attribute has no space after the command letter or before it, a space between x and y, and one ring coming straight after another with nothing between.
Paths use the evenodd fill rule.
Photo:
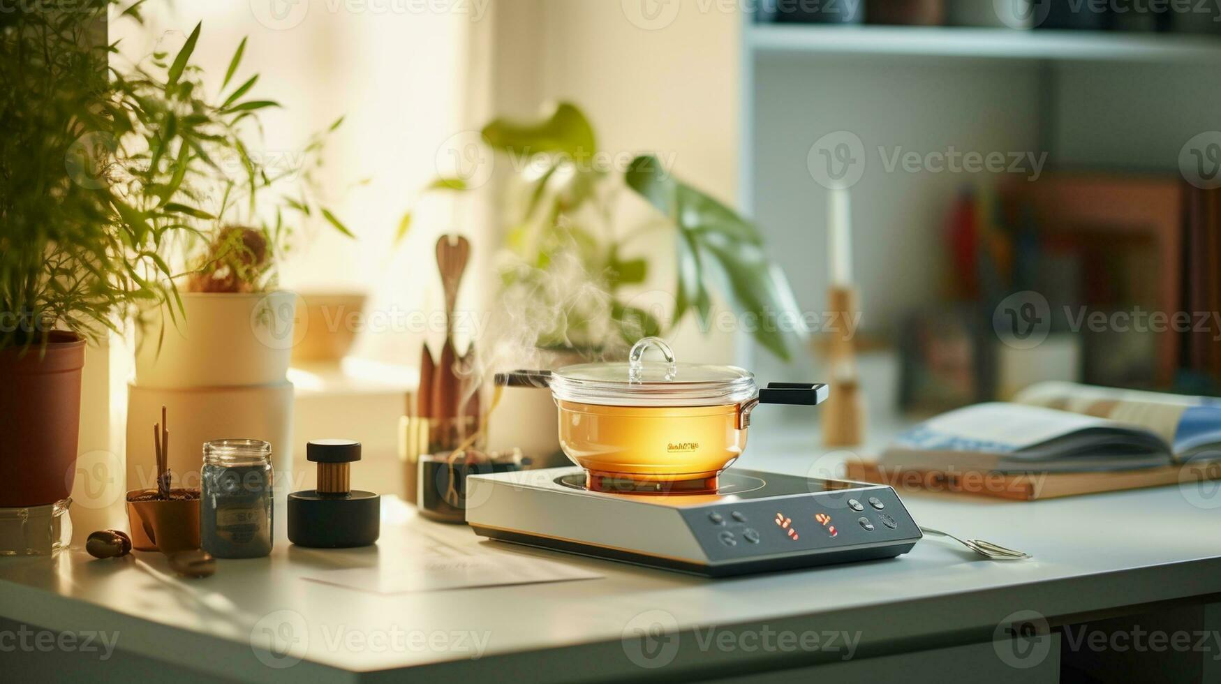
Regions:
<instances>
[{"instance_id":1,"label":"long white shelf board at the upper right","mask_svg":"<svg viewBox=\"0 0 1221 684\"><path fill-rule=\"evenodd\" d=\"M750 24L756 54L1221 62L1221 37L1010 28Z\"/></svg>"}]
</instances>

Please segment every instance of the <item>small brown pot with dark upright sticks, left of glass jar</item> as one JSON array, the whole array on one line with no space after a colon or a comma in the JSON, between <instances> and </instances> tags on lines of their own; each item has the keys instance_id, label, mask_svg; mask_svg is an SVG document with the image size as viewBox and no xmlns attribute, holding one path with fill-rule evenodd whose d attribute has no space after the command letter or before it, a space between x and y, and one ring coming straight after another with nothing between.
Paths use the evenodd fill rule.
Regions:
<instances>
[{"instance_id":1,"label":"small brown pot with dark upright sticks, left of glass jar","mask_svg":"<svg viewBox=\"0 0 1221 684\"><path fill-rule=\"evenodd\" d=\"M137 551L176 553L199 548L199 489L175 487L165 407L153 426L156 486L127 492L127 522Z\"/></svg>"}]
</instances>

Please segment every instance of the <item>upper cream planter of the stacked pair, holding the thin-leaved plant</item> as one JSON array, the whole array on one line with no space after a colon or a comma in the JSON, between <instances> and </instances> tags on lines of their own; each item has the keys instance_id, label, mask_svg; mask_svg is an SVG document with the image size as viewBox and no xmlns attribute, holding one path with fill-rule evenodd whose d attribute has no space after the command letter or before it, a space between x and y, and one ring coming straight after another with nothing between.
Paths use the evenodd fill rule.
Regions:
<instances>
[{"instance_id":1,"label":"upper cream planter of the stacked pair, holding the thin-leaved plant","mask_svg":"<svg viewBox=\"0 0 1221 684\"><path fill-rule=\"evenodd\" d=\"M137 335L136 385L183 388L284 382L298 342L295 300L297 294L284 291L184 292L184 315L178 316L177 326L162 309L164 320L153 320Z\"/></svg>"}]
</instances>

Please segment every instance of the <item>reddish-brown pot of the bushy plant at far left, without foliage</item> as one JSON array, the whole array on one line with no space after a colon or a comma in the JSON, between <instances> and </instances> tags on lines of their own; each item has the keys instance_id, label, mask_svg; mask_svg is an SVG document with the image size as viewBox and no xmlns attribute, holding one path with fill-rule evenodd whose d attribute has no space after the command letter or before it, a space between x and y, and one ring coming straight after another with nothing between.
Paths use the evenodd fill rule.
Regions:
<instances>
[{"instance_id":1,"label":"reddish-brown pot of the bushy plant at far left, without foliage","mask_svg":"<svg viewBox=\"0 0 1221 684\"><path fill-rule=\"evenodd\" d=\"M55 331L45 349L0 349L0 508L68 498L76 478L84 341Z\"/></svg>"}]
</instances>

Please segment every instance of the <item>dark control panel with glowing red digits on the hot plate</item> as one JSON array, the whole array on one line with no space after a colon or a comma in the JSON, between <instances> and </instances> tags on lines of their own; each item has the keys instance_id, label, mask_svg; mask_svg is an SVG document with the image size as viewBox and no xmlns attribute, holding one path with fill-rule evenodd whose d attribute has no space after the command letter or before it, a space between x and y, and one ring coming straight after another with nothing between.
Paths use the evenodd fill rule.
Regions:
<instances>
[{"instance_id":1,"label":"dark control panel with glowing red digits on the hot plate","mask_svg":"<svg viewBox=\"0 0 1221 684\"><path fill-rule=\"evenodd\" d=\"M683 509L712 561L834 551L921 536L890 487L752 498Z\"/></svg>"}]
</instances>

